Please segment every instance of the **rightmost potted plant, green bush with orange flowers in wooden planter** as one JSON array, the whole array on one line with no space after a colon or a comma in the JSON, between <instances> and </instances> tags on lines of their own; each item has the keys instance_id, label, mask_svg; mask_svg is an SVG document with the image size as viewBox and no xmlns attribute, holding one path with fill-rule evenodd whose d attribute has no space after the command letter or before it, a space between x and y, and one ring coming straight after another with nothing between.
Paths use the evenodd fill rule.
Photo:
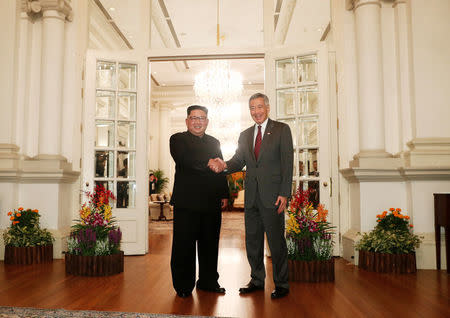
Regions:
<instances>
[{"instance_id":1,"label":"rightmost potted plant, green bush with orange flowers in wooden planter","mask_svg":"<svg viewBox=\"0 0 450 318\"><path fill-rule=\"evenodd\" d=\"M411 232L409 216L401 209L390 208L377 215L377 222L355 246L359 250L358 266L381 273L415 273L415 250L421 237Z\"/></svg>"}]
</instances>

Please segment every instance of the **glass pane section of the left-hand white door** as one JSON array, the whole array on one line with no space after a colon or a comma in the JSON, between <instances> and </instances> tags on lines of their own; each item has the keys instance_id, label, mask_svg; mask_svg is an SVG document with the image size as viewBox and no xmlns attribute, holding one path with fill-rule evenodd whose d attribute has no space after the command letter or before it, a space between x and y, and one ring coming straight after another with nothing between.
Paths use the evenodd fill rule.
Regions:
<instances>
[{"instance_id":1,"label":"glass pane section of the left-hand white door","mask_svg":"<svg viewBox=\"0 0 450 318\"><path fill-rule=\"evenodd\" d=\"M96 61L94 182L113 191L121 209L136 205L136 71Z\"/></svg>"}]
</instances>

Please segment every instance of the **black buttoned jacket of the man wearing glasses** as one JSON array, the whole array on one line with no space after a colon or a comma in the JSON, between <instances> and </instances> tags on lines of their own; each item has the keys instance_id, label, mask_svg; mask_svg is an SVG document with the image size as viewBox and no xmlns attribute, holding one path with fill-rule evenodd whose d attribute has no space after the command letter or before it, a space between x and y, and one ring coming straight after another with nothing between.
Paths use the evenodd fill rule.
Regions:
<instances>
[{"instance_id":1,"label":"black buttoned jacket of the man wearing glasses","mask_svg":"<svg viewBox=\"0 0 450 318\"><path fill-rule=\"evenodd\" d=\"M175 183L171 204L175 208L209 210L229 197L224 175L208 168L211 158L222 158L219 141L209 135L197 137L189 131L170 137L170 154L175 160Z\"/></svg>"}]
</instances>

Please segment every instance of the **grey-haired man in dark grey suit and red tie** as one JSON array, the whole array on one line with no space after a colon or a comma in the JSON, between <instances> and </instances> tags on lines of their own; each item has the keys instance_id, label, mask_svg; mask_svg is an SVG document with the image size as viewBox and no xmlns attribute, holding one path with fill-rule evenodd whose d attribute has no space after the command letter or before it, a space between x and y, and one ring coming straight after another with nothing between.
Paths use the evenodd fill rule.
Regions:
<instances>
[{"instance_id":1,"label":"grey-haired man in dark grey suit and red tie","mask_svg":"<svg viewBox=\"0 0 450 318\"><path fill-rule=\"evenodd\" d=\"M255 125L244 130L233 158L216 158L210 168L233 173L247 167L245 176L245 243L251 280L240 294L264 289L264 232L272 254L275 290L271 297L289 293L284 209L291 195L293 145L288 125L269 119L269 99L257 93L249 100Z\"/></svg>"}]
</instances>

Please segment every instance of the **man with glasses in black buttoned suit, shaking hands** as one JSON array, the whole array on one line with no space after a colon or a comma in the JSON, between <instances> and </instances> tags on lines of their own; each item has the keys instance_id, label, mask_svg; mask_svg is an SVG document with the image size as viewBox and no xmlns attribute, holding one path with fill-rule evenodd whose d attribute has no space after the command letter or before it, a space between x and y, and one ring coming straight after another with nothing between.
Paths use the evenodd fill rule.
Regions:
<instances>
[{"instance_id":1,"label":"man with glasses in black buttoned suit, shaking hands","mask_svg":"<svg viewBox=\"0 0 450 318\"><path fill-rule=\"evenodd\" d=\"M170 153L175 160L172 269L173 286L180 297L188 297L195 285L195 254L198 246L197 289L225 293L218 283L217 258L222 221L227 206L228 184L224 175L208 168L210 158L222 158L219 141L205 134L206 107L187 109L187 131L170 137Z\"/></svg>"}]
</instances>

